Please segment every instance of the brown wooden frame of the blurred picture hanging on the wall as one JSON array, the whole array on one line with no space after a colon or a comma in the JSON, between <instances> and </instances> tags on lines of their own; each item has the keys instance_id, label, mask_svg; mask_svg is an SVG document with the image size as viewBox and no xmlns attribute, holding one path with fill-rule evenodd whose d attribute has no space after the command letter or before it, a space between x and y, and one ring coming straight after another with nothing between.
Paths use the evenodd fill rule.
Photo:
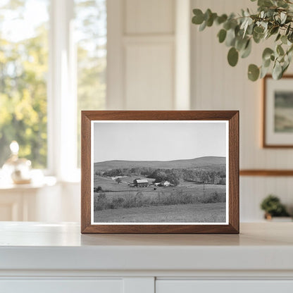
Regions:
<instances>
[{"instance_id":1,"label":"brown wooden frame of the blurred picture hanging on the wall","mask_svg":"<svg viewBox=\"0 0 293 293\"><path fill-rule=\"evenodd\" d=\"M263 125L262 125L262 130L263 130L263 136L262 136L262 145L263 148L271 148L271 149L290 149L293 148L293 144L268 144L266 142L266 106L267 106L267 101L266 101L266 94L267 94L267 89L266 89L266 85L267 85L267 81L268 79L273 78L272 75L266 75L265 77L263 77ZM293 79L293 75L284 75L282 77L282 79L286 79L286 78L292 78Z\"/></svg>"}]
</instances>

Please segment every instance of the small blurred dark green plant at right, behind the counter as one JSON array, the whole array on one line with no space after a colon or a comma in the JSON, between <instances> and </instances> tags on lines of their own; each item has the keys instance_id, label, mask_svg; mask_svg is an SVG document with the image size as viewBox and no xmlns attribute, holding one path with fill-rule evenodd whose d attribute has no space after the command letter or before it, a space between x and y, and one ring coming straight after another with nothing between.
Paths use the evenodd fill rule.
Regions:
<instances>
[{"instance_id":1,"label":"small blurred dark green plant at right, behind the counter","mask_svg":"<svg viewBox=\"0 0 293 293\"><path fill-rule=\"evenodd\" d=\"M265 211L266 220L272 220L273 217L289 217L285 206L281 203L278 197L273 194L268 195L261 202L261 209Z\"/></svg>"}]
</instances>

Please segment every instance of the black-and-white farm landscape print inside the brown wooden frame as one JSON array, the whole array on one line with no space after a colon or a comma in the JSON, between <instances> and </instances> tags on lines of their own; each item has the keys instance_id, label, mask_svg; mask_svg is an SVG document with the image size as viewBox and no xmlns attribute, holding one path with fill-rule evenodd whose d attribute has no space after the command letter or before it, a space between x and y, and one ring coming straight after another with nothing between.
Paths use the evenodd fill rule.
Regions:
<instances>
[{"instance_id":1,"label":"black-and-white farm landscape print inside the brown wooden frame","mask_svg":"<svg viewBox=\"0 0 293 293\"><path fill-rule=\"evenodd\" d=\"M226 223L225 121L92 124L94 223Z\"/></svg>"}]
</instances>

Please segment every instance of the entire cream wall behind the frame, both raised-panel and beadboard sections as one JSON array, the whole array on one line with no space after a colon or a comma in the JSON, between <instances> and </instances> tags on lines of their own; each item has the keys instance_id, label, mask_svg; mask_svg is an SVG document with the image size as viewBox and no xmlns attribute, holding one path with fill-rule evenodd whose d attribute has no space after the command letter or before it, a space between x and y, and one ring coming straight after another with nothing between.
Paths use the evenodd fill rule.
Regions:
<instances>
[{"instance_id":1,"label":"entire cream wall behind the frame, both raised-panel and beadboard sections","mask_svg":"<svg viewBox=\"0 0 293 293\"><path fill-rule=\"evenodd\" d=\"M219 13L255 5L190 1L191 8ZM108 0L108 109L188 109L189 102L197 110L239 109L240 167L292 169L293 150L261 149L261 82L247 80L247 66L260 63L264 45L231 68L228 49L216 38L219 28L198 32L185 22L191 8L189 0ZM261 220L259 204L269 193L293 208L291 190L292 177L240 177L240 219ZM79 221L80 186L63 185L61 194L61 214L48 217Z\"/></svg>"}]
</instances>

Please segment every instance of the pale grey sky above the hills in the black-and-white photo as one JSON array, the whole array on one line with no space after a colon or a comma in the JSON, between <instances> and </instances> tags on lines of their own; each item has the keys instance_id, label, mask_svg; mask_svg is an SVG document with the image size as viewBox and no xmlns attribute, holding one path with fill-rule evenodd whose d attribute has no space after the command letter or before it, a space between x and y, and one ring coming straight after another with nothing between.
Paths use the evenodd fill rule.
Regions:
<instances>
[{"instance_id":1,"label":"pale grey sky above the hills in the black-and-white photo","mask_svg":"<svg viewBox=\"0 0 293 293\"><path fill-rule=\"evenodd\" d=\"M226 156L225 122L95 122L94 163Z\"/></svg>"}]
</instances>

